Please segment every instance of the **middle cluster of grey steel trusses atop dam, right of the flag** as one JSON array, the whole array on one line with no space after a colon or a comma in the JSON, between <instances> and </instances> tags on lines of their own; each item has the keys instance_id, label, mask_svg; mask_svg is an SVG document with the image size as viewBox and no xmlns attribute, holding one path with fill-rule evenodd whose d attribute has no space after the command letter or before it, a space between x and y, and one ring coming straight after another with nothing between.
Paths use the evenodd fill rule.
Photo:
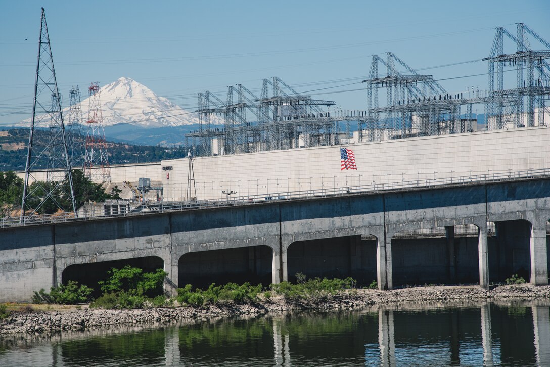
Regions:
<instances>
[{"instance_id":1,"label":"middle cluster of grey steel trusses atop dam, right of the flag","mask_svg":"<svg viewBox=\"0 0 550 367\"><path fill-rule=\"evenodd\" d=\"M395 65L410 74L399 72ZM378 66L385 68L385 77ZM420 75L392 52L386 59L373 56L367 84L368 120L360 122L366 131L361 141L411 138L414 136L465 133L472 130L472 105L485 103L485 98L472 89L467 95L447 92L433 75ZM386 89L387 105L379 107L379 90ZM466 106L462 118L461 106Z\"/></svg>"}]
</instances>

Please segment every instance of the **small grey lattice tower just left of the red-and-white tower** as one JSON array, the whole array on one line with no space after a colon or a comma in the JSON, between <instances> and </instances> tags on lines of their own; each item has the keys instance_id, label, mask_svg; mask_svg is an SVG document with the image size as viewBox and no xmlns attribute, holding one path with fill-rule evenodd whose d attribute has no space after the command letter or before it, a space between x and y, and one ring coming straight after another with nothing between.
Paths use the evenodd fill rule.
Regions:
<instances>
[{"instance_id":1,"label":"small grey lattice tower just left of the red-and-white tower","mask_svg":"<svg viewBox=\"0 0 550 367\"><path fill-rule=\"evenodd\" d=\"M83 166L83 146L84 139L82 136L82 106L80 105L81 93L78 85L72 87L69 91L70 107L69 117L67 120L67 147L69 157L73 167Z\"/></svg>"}]
</instances>

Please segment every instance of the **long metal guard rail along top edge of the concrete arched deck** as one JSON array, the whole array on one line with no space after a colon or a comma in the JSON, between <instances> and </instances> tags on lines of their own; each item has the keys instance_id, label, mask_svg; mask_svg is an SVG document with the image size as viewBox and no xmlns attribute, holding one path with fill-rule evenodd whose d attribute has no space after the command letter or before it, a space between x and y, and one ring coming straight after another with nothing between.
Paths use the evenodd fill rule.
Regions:
<instances>
[{"instance_id":1,"label":"long metal guard rail along top edge of the concrete arched deck","mask_svg":"<svg viewBox=\"0 0 550 367\"><path fill-rule=\"evenodd\" d=\"M496 172L477 174L474 176L447 177L434 179L410 180L389 183L372 183L350 187L322 188L301 191L289 191L279 193L267 193L262 195L235 196L232 198L219 198L212 200L156 202L140 205L140 211L128 211L124 213L111 213L105 215L103 210L87 212L85 217L75 217L74 213L55 213L48 215L26 216L22 222L19 217L7 217L0 219L0 228L15 226L30 226L49 223L63 223L74 221L88 221L105 218L120 218L129 216L147 215L150 213L161 213L168 211L197 210L210 207L224 207L235 205L255 205L271 200L297 200L311 197L344 196L359 193L381 193L388 191L401 191L421 188L444 188L455 185L479 184L487 182L503 182L529 178L550 177L550 169L528 169L526 171Z\"/></svg>"}]
</instances>

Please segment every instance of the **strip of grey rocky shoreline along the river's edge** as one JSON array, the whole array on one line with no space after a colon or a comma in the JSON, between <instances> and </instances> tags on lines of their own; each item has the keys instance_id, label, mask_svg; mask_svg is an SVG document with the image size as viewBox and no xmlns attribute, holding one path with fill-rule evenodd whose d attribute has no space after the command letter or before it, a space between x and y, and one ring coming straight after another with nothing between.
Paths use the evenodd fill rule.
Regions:
<instances>
[{"instance_id":1,"label":"strip of grey rocky shoreline along the river's edge","mask_svg":"<svg viewBox=\"0 0 550 367\"><path fill-rule=\"evenodd\" d=\"M169 324L178 321L201 321L217 317L280 314L300 310L349 310L372 305L395 305L410 302L454 302L503 300L543 300L550 303L550 286L531 284L499 286L485 291L477 286L433 286L377 291L357 291L328 295L315 301L288 303L282 297L266 302L238 305L218 303L202 308L174 307L139 310L69 309L48 311L13 311L0 320L0 335L12 333L45 333L58 330L92 330L122 325Z\"/></svg>"}]
</instances>

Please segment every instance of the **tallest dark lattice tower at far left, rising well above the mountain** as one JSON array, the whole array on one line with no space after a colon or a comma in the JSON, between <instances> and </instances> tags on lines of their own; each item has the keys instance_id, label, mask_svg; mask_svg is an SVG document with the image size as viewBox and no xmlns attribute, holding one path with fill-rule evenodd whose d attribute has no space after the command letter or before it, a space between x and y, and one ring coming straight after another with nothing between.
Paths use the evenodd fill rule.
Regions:
<instances>
[{"instance_id":1,"label":"tallest dark lattice tower at far left, rising well above the mountain","mask_svg":"<svg viewBox=\"0 0 550 367\"><path fill-rule=\"evenodd\" d=\"M48 99L45 99L45 96ZM50 97L53 103L48 103ZM50 136L46 141L35 140L35 125L45 125L46 123L50 128ZM40 177L34 176L37 168L46 168L45 181L38 180ZM38 212L41 209L49 212L72 209L76 216L76 201L71 170L61 98L57 87L56 72L53 67L50 36L46 25L46 14L44 8L42 8L29 150L25 163L25 184L21 202L21 223L25 221L27 211ZM29 186L31 181L34 183ZM70 203L64 204L64 201Z\"/></svg>"}]
</instances>

